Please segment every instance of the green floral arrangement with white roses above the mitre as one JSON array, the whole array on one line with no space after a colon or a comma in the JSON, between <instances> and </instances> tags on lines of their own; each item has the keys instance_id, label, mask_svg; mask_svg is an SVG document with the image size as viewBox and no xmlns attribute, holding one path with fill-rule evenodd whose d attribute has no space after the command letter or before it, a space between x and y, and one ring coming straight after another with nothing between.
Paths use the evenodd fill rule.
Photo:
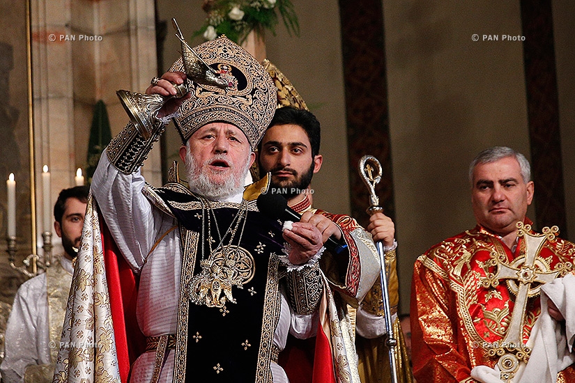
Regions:
<instances>
[{"instance_id":1,"label":"green floral arrangement with white roses above the mitre","mask_svg":"<svg viewBox=\"0 0 575 383\"><path fill-rule=\"evenodd\" d=\"M208 17L206 24L194 36L203 35L206 40L226 35L241 44L251 31L263 36L266 29L275 36L276 10L282 16L289 35L300 34L298 17L289 0L204 0L202 8Z\"/></svg>"}]
</instances>

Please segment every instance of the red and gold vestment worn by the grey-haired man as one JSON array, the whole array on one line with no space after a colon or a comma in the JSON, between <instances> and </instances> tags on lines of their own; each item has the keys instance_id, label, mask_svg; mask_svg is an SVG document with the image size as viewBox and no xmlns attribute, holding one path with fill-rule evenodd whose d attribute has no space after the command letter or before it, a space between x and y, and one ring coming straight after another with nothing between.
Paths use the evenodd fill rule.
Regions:
<instances>
[{"instance_id":1,"label":"red and gold vestment worn by the grey-haired man","mask_svg":"<svg viewBox=\"0 0 575 383\"><path fill-rule=\"evenodd\" d=\"M523 237L512 251L498 236L476 226L431 247L417 259L411 290L411 335L413 375L418 383L473 382L473 367L495 366L498 357L489 357L489 348L507 334L515 282L496 278L494 260L510 265L524 251ZM564 276L572 269L574 256L575 244L557 238L545 242L538 262ZM528 298L523 316L524 345L540 313L536 294ZM559 374L558 382L573 381L573 366Z\"/></svg>"}]
</instances>

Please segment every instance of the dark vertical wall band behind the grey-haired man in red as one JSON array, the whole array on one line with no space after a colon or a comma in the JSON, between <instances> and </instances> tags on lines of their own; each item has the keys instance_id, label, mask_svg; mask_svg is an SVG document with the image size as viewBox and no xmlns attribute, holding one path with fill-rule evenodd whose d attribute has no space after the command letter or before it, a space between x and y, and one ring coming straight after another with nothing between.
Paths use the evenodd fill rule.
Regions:
<instances>
[{"instance_id":1,"label":"dark vertical wall band behind the grey-haired man in red","mask_svg":"<svg viewBox=\"0 0 575 383\"><path fill-rule=\"evenodd\" d=\"M536 223L567 237L551 0L522 0L521 22Z\"/></svg>"}]
</instances>

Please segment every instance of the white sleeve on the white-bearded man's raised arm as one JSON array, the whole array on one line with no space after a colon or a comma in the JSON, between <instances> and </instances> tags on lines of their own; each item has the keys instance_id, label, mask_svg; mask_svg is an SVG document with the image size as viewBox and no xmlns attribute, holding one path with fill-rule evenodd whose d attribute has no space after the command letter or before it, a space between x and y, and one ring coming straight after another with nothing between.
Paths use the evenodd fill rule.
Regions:
<instances>
[{"instance_id":1,"label":"white sleeve on the white-bearded man's raised arm","mask_svg":"<svg viewBox=\"0 0 575 383\"><path fill-rule=\"evenodd\" d=\"M116 244L135 272L144 265L164 215L153 209L142 194L145 185L139 170L132 174L118 171L104 150L92 178L91 192Z\"/></svg>"}]
</instances>

